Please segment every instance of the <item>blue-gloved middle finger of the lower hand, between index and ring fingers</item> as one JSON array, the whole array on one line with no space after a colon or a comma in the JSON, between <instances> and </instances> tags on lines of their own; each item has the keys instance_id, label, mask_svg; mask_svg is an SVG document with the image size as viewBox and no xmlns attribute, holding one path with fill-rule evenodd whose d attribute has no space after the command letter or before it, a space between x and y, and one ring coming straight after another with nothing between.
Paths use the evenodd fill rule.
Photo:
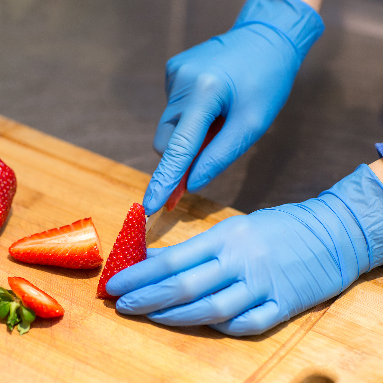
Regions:
<instances>
[{"instance_id":1,"label":"blue-gloved middle finger of the lower hand, between index and ring fingers","mask_svg":"<svg viewBox=\"0 0 383 383\"><path fill-rule=\"evenodd\" d=\"M221 262L210 262L145 286L119 298L116 309L123 314L147 314L196 301L236 282L234 268L223 270Z\"/></svg>"}]
</instances>

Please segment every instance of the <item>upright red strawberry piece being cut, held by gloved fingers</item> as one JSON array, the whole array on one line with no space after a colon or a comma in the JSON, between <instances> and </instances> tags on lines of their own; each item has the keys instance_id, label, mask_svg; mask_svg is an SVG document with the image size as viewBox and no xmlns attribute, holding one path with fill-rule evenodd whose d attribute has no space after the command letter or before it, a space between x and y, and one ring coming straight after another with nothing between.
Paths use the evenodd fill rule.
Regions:
<instances>
[{"instance_id":1,"label":"upright red strawberry piece being cut, held by gloved fingers","mask_svg":"<svg viewBox=\"0 0 383 383\"><path fill-rule=\"evenodd\" d=\"M97 287L98 298L117 299L118 297L106 292L106 282L124 268L146 259L145 223L145 210L143 206L135 202L126 215L122 229L102 270Z\"/></svg>"}]
</instances>

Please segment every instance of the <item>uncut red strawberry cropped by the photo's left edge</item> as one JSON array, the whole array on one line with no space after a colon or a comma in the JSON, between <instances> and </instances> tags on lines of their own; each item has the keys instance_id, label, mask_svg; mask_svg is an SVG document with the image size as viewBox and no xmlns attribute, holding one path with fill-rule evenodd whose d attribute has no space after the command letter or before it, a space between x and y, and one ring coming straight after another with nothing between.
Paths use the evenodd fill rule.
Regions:
<instances>
[{"instance_id":1,"label":"uncut red strawberry cropped by the photo's left edge","mask_svg":"<svg viewBox=\"0 0 383 383\"><path fill-rule=\"evenodd\" d=\"M15 172L0 160L0 228L7 219L15 193Z\"/></svg>"}]
</instances>

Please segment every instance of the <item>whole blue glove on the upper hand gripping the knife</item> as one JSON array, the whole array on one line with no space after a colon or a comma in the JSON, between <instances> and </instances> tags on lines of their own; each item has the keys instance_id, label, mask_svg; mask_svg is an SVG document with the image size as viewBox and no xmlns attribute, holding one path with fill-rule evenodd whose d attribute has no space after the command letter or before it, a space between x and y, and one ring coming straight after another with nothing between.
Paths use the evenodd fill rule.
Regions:
<instances>
[{"instance_id":1,"label":"whole blue glove on the upper hand gripping the knife","mask_svg":"<svg viewBox=\"0 0 383 383\"><path fill-rule=\"evenodd\" d=\"M192 193L265 133L323 29L318 13L300 0L248 0L227 33L167 62L168 105L154 138L164 155L144 196L146 214L167 201L217 116L226 123L193 164Z\"/></svg>"}]
</instances>

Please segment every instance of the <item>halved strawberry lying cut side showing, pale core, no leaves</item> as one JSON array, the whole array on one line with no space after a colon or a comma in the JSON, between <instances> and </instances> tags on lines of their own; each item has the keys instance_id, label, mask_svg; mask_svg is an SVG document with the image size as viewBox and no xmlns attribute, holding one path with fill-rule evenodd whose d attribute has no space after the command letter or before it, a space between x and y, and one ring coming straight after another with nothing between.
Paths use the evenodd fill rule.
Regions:
<instances>
[{"instance_id":1,"label":"halved strawberry lying cut side showing, pale core, no leaves","mask_svg":"<svg viewBox=\"0 0 383 383\"><path fill-rule=\"evenodd\" d=\"M92 218L19 239L9 253L21 262L67 268L95 268L103 262Z\"/></svg>"}]
</instances>

